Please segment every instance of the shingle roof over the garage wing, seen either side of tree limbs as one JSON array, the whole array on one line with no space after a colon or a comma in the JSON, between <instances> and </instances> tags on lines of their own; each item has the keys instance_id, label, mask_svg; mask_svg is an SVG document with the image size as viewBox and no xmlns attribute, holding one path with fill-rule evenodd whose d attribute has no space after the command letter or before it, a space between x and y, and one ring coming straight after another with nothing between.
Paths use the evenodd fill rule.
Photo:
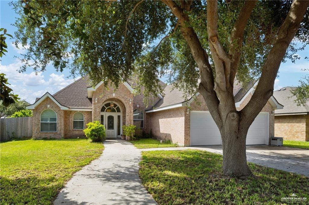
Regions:
<instances>
[{"instance_id":1,"label":"shingle roof over the garage wing, seen either side of tree limbs","mask_svg":"<svg viewBox=\"0 0 309 205\"><path fill-rule=\"evenodd\" d=\"M246 87L240 88L240 90L234 96L235 97L235 103L239 102L243 98L243 96L246 95L246 93L252 88L252 86L255 84L255 82L256 81L249 82ZM154 109L163 108L163 107L166 107L166 106L183 103L187 100L190 100L190 98L191 98L190 97L188 99L185 99L184 93L177 88L172 89L172 85L166 86L166 88L164 89L164 94L165 94L164 98L160 99L154 105Z\"/></svg>"}]
</instances>

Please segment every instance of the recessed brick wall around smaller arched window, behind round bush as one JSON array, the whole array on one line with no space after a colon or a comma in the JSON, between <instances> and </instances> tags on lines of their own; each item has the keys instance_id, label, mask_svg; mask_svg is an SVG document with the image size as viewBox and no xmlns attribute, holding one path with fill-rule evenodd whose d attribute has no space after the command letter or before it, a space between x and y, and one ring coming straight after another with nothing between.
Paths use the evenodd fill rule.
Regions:
<instances>
[{"instance_id":1,"label":"recessed brick wall around smaller arched window, behind round bush","mask_svg":"<svg viewBox=\"0 0 309 205\"><path fill-rule=\"evenodd\" d=\"M92 121L91 111L64 111L64 137L65 138L76 138L86 137L83 129L73 129L73 115L75 113L82 113L84 116L84 129L87 127L87 123Z\"/></svg>"}]
</instances>

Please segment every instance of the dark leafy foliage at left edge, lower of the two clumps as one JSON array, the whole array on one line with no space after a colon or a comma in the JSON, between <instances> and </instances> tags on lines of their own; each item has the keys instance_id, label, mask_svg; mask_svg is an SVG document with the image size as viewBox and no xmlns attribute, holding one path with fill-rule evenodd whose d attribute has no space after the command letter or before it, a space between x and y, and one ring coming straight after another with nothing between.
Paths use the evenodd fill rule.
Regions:
<instances>
[{"instance_id":1,"label":"dark leafy foliage at left edge, lower of the two clumps","mask_svg":"<svg viewBox=\"0 0 309 205\"><path fill-rule=\"evenodd\" d=\"M0 73L0 85L1 85L1 101L2 101L2 106L9 106L16 101L18 101L20 98L18 95L14 95L14 93L11 93L13 90L10 88L8 85L11 85L7 82L7 78L4 77L4 73Z\"/></svg>"}]
</instances>

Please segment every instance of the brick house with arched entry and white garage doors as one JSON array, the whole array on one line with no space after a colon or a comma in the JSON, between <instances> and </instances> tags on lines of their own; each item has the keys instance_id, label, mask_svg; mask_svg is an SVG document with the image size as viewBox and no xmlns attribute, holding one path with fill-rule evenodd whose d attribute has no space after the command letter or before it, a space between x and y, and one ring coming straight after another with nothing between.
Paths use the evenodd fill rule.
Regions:
<instances>
[{"instance_id":1,"label":"brick house with arched entry and white garage doors","mask_svg":"<svg viewBox=\"0 0 309 205\"><path fill-rule=\"evenodd\" d=\"M33 109L33 138L83 137L83 129L91 121L106 127L107 138L120 138L122 125L134 124L154 137L184 146L219 145L221 137L201 95L199 103L184 99L178 89L162 82L164 94L154 97L155 105L146 107L143 95L133 96L131 82L118 89L106 89L101 83L89 86L88 77L81 78L54 95L45 93L27 109ZM255 85L241 88L235 84L236 107L241 109L251 98ZM188 109L190 106L191 109ZM282 109L272 96L252 123L247 144L269 144L274 136L274 109Z\"/></svg>"}]
</instances>

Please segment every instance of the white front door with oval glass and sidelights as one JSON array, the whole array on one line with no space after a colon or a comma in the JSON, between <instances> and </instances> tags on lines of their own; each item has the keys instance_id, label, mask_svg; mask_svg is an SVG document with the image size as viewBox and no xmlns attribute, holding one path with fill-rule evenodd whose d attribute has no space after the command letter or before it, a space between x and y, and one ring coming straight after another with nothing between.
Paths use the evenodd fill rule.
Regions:
<instances>
[{"instance_id":1,"label":"white front door with oval glass and sidelights","mask_svg":"<svg viewBox=\"0 0 309 205\"><path fill-rule=\"evenodd\" d=\"M117 113L101 113L101 124L105 126L106 138L120 138L121 115Z\"/></svg>"}]
</instances>

